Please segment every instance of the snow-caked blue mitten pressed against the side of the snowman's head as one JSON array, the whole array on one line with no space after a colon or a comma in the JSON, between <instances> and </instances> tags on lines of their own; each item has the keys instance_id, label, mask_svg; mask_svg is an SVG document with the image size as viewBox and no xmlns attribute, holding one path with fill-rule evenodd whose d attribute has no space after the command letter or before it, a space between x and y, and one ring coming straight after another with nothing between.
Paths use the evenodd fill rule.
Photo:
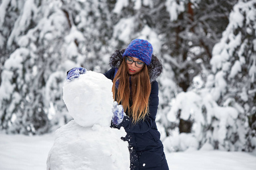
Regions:
<instances>
[{"instance_id":1,"label":"snow-caked blue mitten pressed against the side of the snowman's head","mask_svg":"<svg viewBox=\"0 0 256 170\"><path fill-rule=\"evenodd\" d=\"M117 101L114 101L112 108L113 116L112 122L114 125L119 125L123 121L123 106L118 105Z\"/></svg>"}]
</instances>

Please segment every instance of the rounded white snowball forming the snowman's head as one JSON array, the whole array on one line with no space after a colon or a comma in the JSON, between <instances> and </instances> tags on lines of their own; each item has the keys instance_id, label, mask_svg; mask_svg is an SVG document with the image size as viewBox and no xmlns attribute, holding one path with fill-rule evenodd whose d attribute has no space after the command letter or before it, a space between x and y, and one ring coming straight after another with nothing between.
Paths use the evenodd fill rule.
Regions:
<instances>
[{"instance_id":1,"label":"rounded white snowball forming the snowman's head","mask_svg":"<svg viewBox=\"0 0 256 170\"><path fill-rule=\"evenodd\" d=\"M79 78L66 82L63 100L77 124L110 126L112 118L112 81L101 73L86 71Z\"/></svg>"}]
</instances>

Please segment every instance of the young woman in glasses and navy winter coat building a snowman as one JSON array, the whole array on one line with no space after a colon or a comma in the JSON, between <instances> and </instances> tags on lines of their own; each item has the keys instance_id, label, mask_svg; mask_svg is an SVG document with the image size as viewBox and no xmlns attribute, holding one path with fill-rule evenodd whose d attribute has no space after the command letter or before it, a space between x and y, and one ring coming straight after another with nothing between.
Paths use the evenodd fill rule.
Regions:
<instances>
[{"instance_id":1,"label":"young woman in glasses and navy winter coat building a snowman","mask_svg":"<svg viewBox=\"0 0 256 170\"><path fill-rule=\"evenodd\" d=\"M123 127L127 133L123 140L129 143L133 170L168 169L155 123L159 103L155 79L162 73L162 64L152 52L148 41L135 39L126 49L115 50L110 57L112 69L104 74L112 79L115 101L127 115L113 120L112 127Z\"/></svg>"}]
</instances>

